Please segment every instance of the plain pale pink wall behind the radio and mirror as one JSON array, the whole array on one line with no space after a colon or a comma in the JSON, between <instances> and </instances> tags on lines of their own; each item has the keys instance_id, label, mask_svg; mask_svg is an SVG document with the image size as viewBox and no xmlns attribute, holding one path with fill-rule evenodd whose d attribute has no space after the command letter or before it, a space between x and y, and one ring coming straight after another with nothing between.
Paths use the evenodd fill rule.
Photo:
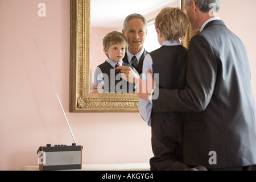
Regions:
<instances>
[{"instance_id":1,"label":"plain pale pink wall behind the radio and mirror","mask_svg":"<svg viewBox=\"0 0 256 182\"><path fill-rule=\"evenodd\" d=\"M43 18L38 16L40 2L47 8ZM256 1L245 2L222 1L220 17L247 47L256 96L256 35L250 15ZM1 0L0 24L0 170L38 166L39 146L73 142L34 39L76 142L84 146L82 163L148 162L151 131L139 113L68 112L69 0Z\"/></svg>"}]
</instances>

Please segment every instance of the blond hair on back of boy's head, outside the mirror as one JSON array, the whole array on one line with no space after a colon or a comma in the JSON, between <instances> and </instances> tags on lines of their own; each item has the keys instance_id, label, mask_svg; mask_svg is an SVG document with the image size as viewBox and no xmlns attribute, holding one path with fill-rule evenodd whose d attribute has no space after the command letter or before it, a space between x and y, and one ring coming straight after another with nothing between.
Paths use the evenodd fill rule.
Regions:
<instances>
[{"instance_id":1,"label":"blond hair on back of boy's head, outside the mirror","mask_svg":"<svg viewBox=\"0 0 256 182\"><path fill-rule=\"evenodd\" d=\"M188 30L188 16L179 8L165 7L155 18L155 28L159 28L166 40L183 40Z\"/></svg>"}]
</instances>

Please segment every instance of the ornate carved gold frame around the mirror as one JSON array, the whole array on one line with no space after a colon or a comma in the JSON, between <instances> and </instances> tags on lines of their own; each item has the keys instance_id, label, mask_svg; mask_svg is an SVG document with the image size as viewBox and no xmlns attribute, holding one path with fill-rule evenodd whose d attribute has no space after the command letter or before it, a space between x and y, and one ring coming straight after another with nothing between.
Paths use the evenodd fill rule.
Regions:
<instances>
[{"instance_id":1,"label":"ornate carved gold frame around the mirror","mask_svg":"<svg viewBox=\"0 0 256 182\"><path fill-rule=\"evenodd\" d=\"M181 0L184 10L184 0ZM183 46L191 39L189 27ZM135 93L90 93L90 0L71 0L69 112L138 112Z\"/></svg>"}]
</instances>

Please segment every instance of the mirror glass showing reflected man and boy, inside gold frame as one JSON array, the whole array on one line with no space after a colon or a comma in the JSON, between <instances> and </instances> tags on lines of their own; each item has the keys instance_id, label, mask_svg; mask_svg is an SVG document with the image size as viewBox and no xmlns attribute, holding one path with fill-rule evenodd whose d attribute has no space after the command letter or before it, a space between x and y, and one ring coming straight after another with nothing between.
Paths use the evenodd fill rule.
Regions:
<instances>
[{"instance_id":1,"label":"mirror glass showing reflected man and boy, inside gold frame","mask_svg":"<svg viewBox=\"0 0 256 182\"><path fill-rule=\"evenodd\" d=\"M91 1L90 92L135 93L144 56L160 47L154 18L163 7L180 1Z\"/></svg>"}]
</instances>

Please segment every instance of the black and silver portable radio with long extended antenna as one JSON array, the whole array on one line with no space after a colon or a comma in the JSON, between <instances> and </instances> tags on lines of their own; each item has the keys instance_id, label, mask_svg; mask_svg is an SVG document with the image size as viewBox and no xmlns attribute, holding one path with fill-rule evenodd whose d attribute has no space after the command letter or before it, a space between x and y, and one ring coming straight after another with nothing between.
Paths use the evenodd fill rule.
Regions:
<instances>
[{"instance_id":1,"label":"black and silver portable radio with long extended antenna","mask_svg":"<svg viewBox=\"0 0 256 182\"><path fill-rule=\"evenodd\" d=\"M36 48L38 49L41 60L44 64L44 60L40 54L40 51L36 44L35 39L34 39L34 42L35 42ZM46 68L46 64L44 64L44 68ZM60 107L63 111L65 120L68 124L69 131L75 143L72 143L71 146L67 146L65 144L55 144L54 146L51 146L51 144L47 144L46 146L40 146L37 151L37 154L39 155L39 159L38 159L39 169L40 171L81 169L82 168L82 146L76 145L76 140L72 133L71 127L69 125L68 118L60 102L60 98L56 92L56 89L53 85L51 77L49 76L47 68L46 68L46 72L48 74L49 80L51 81L52 87L55 91Z\"/></svg>"}]
</instances>

